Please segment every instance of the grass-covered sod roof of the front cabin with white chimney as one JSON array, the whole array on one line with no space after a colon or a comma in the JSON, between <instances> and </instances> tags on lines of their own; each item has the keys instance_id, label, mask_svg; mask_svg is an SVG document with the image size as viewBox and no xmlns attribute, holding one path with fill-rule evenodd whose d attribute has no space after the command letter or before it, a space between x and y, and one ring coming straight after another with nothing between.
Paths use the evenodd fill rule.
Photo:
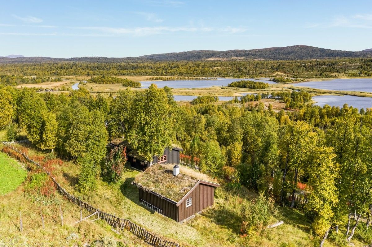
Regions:
<instances>
[{"instance_id":1,"label":"grass-covered sod roof of the front cabin with white chimney","mask_svg":"<svg viewBox=\"0 0 372 247\"><path fill-rule=\"evenodd\" d=\"M180 167L180 174L173 176L173 166L154 164L138 174L134 182L144 190L154 191L175 202L179 202L199 180L216 183L208 175L183 166Z\"/></svg>"}]
</instances>

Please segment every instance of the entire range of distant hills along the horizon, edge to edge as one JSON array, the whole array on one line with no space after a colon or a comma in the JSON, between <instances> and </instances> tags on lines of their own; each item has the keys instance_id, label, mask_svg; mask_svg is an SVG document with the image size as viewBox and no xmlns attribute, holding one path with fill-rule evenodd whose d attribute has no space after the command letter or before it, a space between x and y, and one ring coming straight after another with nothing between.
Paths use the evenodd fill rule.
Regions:
<instances>
[{"instance_id":1,"label":"entire range of distant hills along the horizon, edge to edge","mask_svg":"<svg viewBox=\"0 0 372 247\"><path fill-rule=\"evenodd\" d=\"M12 56L12 57L10 57ZM19 57L17 57L19 56ZM372 57L372 49L361 52L346 50L331 50L314 46L286 46L270 47L253 50L191 50L188 52L172 52L145 55L140 57L23 57L9 55L0 57L0 63L39 63L39 62L139 62L139 61L180 61L180 60L306 60L306 59L334 59L341 57Z\"/></svg>"}]
</instances>

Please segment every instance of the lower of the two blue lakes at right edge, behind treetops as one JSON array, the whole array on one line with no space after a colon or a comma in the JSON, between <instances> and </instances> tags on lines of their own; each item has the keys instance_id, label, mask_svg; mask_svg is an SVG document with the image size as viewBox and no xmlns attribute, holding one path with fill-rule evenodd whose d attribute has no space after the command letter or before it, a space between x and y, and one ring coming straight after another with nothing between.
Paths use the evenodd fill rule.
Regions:
<instances>
[{"instance_id":1,"label":"lower of the two blue lakes at right edge, behind treetops","mask_svg":"<svg viewBox=\"0 0 372 247\"><path fill-rule=\"evenodd\" d=\"M324 106L340 106L340 108L347 103L349 106L354 108L372 108L372 98L370 97L358 97L352 95L318 95L313 96L312 100L317 102L315 105Z\"/></svg>"}]
</instances>

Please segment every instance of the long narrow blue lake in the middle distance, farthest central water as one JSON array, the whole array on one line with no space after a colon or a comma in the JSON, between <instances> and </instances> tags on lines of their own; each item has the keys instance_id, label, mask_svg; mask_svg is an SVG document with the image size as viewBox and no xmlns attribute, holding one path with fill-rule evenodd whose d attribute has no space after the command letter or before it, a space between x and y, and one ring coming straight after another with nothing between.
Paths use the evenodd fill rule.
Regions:
<instances>
[{"instance_id":1,"label":"long narrow blue lake in the middle distance, farthest central water","mask_svg":"<svg viewBox=\"0 0 372 247\"><path fill-rule=\"evenodd\" d=\"M243 78L217 78L217 80L159 80L159 81L142 81L142 88L148 88L151 83L154 83L158 88L169 86L170 88L209 88L211 86L227 86L231 82L237 80L253 80L255 82L266 82L269 84L276 84L270 80L257 80L257 79L243 79Z\"/></svg>"}]
</instances>

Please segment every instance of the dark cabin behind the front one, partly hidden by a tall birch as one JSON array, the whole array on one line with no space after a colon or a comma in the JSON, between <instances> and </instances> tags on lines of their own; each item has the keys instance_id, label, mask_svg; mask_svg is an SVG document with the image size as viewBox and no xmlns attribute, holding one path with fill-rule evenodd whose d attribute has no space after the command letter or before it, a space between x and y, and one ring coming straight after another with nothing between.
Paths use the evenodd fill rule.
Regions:
<instances>
[{"instance_id":1,"label":"dark cabin behind the front one, partly hidden by a tall birch","mask_svg":"<svg viewBox=\"0 0 372 247\"><path fill-rule=\"evenodd\" d=\"M180 164L180 152L183 151L182 148L172 145L169 148L165 148L163 155L153 156L152 161L147 161L142 155L138 154L134 149L131 148L129 143L123 138L115 138L110 144L112 146L123 145L126 146L126 154L128 162L131 164L132 168L138 169L140 171L150 167L155 163L164 163L164 164Z\"/></svg>"}]
</instances>

